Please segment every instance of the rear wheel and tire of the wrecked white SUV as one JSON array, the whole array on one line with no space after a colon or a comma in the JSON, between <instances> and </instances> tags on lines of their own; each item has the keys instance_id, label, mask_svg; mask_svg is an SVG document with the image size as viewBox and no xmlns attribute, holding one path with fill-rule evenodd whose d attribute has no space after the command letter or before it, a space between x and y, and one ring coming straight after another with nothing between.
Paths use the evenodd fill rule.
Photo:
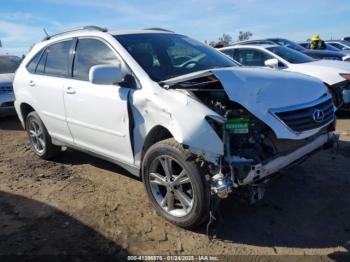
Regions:
<instances>
[{"instance_id":1,"label":"rear wheel and tire of the wrecked white SUV","mask_svg":"<svg viewBox=\"0 0 350 262\"><path fill-rule=\"evenodd\" d=\"M51 159L61 152L61 147L52 144L51 137L36 112L27 115L26 131L32 150L41 159Z\"/></svg>"}]
</instances>

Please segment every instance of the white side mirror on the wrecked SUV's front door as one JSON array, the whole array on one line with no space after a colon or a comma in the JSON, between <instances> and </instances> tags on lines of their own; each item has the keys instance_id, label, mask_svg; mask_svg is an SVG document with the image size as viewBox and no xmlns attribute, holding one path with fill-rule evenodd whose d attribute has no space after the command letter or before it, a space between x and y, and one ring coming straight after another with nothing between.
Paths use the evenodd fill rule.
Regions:
<instances>
[{"instance_id":1,"label":"white side mirror on the wrecked SUV's front door","mask_svg":"<svg viewBox=\"0 0 350 262\"><path fill-rule=\"evenodd\" d=\"M114 85L123 82L120 65L95 65L90 68L89 81L97 85Z\"/></svg>"}]
</instances>

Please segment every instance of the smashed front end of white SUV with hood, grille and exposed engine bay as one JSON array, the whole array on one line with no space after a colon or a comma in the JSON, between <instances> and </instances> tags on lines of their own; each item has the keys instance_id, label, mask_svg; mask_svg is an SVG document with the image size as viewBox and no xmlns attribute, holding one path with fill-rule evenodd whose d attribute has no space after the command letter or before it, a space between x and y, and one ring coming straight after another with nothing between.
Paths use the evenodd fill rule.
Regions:
<instances>
[{"instance_id":1,"label":"smashed front end of white SUV with hood, grille and exposed engine bay","mask_svg":"<svg viewBox=\"0 0 350 262\"><path fill-rule=\"evenodd\" d=\"M251 203L260 200L271 175L338 140L335 107L323 85L302 78L276 89L285 75L273 79L266 74L249 81L249 71L218 69L161 83L166 89L186 90L213 111L205 119L221 138L223 154L215 163L203 162L211 192L219 198L245 187ZM297 90L293 84L307 86Z\"/></svg>"}]
</instances>

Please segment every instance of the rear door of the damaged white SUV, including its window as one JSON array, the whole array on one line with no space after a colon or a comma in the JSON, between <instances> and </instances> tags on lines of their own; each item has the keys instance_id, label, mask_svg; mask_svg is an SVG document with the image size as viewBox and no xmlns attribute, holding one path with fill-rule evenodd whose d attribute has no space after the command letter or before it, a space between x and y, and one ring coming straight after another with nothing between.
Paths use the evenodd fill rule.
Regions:
<instances>
[{"instance_id":1,"label":"rear door of the damaged white SUV, including its window","mask_svg":"<svg viewBox=\"0 0 350 262\"><path fill-rule=\"evenodd\" d=\"M73 139L65 119L63 82L68 77L72 45L73 40L54 43L37 54L27 66L31 73L27 85L36 100L35 109L49 134L68 143Z\"/></svg>"}]
</instances>

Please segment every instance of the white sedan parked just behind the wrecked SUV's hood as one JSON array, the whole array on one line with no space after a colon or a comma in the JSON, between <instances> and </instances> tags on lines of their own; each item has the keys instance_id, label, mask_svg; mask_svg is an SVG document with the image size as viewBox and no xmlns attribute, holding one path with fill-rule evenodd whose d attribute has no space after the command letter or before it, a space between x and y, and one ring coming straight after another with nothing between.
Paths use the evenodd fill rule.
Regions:
<instances>
[{"instance_id":1,"label":"white sedan parked just behind the wrecked SUV's hood","mask_svg":"<svg viewBox=\"0 0 350 262\"><path fill-rule=\"evenodd\" d=\"M244 66L267 66L316 77L328 86L338 107L349 107L349 63L315 60L278 45L235 45L219 50Z\"/></svg>"}]
</instances>

